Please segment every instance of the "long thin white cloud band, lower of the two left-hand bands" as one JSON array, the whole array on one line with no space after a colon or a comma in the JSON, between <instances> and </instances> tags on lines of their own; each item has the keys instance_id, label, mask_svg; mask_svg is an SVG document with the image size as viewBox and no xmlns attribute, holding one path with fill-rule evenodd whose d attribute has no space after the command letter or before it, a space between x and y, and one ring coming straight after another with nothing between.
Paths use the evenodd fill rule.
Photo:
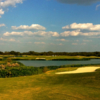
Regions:
<instances>
[{"instance_id":1,"label":"long thin white cloud band, lower of the two left-hand bands","mask_svg":"<svg viewBox=\"0 0 100 100\"><path fill-rule=\"evenodd\" d=\"M53 37L58 37L59 34L57 32L46 32L46 31L38 31L38 32L31 32L31 31L24 31L24 32L6 32L3 34L4 36L24 36L24 35L29 35L29 36L53 36Z\"/></svg>"}]
</instances>

